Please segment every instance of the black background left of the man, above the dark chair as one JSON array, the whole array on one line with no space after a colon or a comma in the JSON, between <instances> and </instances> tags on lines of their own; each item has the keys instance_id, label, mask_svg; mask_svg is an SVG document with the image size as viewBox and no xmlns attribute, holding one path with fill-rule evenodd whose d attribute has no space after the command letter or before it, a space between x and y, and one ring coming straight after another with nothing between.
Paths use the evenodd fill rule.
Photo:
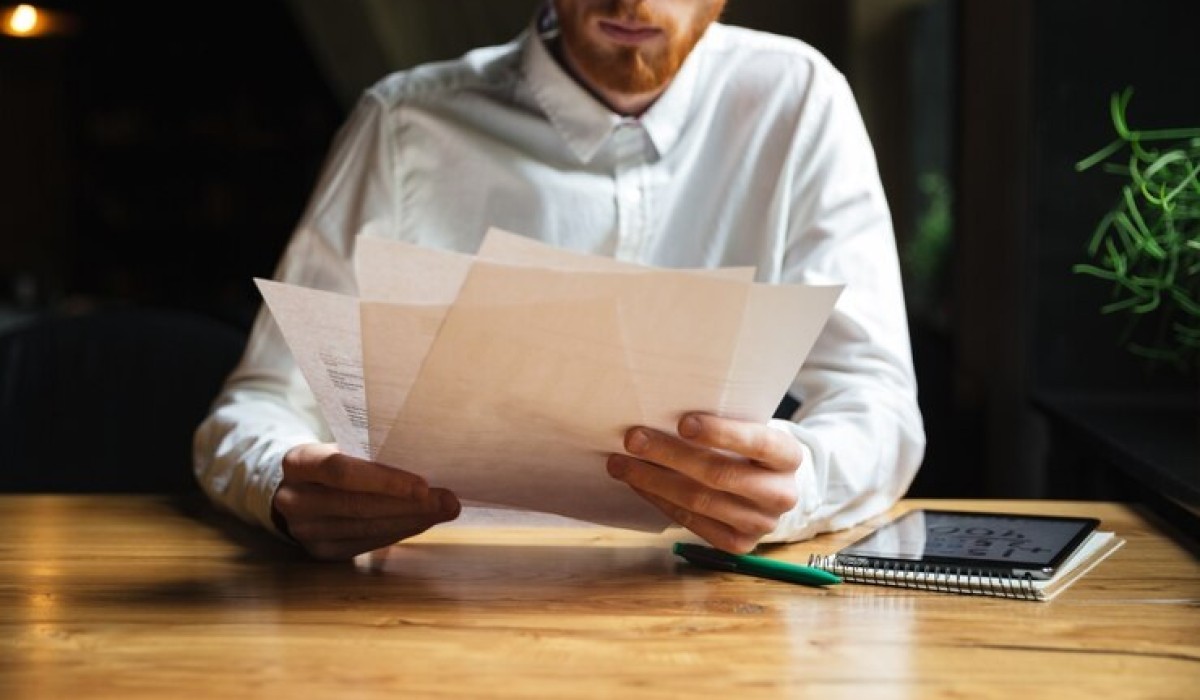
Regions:
<instances>
[{"instance_id":1,"label":"black background left of the man, above the dark chair","mask_svg":"<svg viewBox=\"0 0 1200 700\"><path fill-rule=\"evenodd\" d=\"M0 36L6 300L245 325L342 118L287 6L56 5L76 35Z\"/></svg>"}]
</instances>

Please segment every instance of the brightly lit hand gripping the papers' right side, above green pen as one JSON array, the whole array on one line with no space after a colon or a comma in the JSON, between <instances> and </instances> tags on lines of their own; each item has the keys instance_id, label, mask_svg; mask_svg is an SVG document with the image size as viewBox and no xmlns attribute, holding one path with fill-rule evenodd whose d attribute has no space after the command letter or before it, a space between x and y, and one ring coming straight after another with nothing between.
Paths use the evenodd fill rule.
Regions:
<instances>
[{"instance_id":1,"label":"brightly lit hand gripping the papers' right side, above green pen","mask_svg":"<svg viewBox=\"0 0 1200 700\"><path fill-rule=\"evenodd\" d=\"M684 415L678 431L630 429L630 454L610 455L608 474L713 546L752 550L796 507L799 442L768 425L702 413Z\"/></svg>"}]
</instances>

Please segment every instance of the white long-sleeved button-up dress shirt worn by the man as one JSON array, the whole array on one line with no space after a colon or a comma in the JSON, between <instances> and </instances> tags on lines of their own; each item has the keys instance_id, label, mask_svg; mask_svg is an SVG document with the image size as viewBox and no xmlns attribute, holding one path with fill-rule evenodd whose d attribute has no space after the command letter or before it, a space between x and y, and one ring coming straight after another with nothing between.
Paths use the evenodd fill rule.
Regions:
<instances>
[{"instance_id":1,"label":"white long-sleeved button-up dress shirt worn by the man","mask_svg":"<svg viewBox=\"0 0 1200 700\"><path fill-rule=\"evenodd\" d=\"M490 226L648 265L845 283L791 388L799 411L772 421L804 462L799 503L768 539L848 527L908 487L925 437L889 211L850 88L808 44L714 24L637 119L533 30L391 74L335 138L276 279L353 293L358 235L474 253ZM197 430L196 474L274 530L283 454L329 439L264 309Z\"/></svg>"}]
</instances>

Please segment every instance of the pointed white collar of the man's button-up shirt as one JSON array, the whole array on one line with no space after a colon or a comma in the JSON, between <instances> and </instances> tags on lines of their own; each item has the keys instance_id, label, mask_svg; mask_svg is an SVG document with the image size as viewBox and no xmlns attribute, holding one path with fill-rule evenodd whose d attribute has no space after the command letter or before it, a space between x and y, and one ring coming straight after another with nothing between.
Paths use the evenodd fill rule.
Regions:
<instances>
[{"instance_id":1,"label":"pointed white collar of the man's button-up shirt","mask_svg":"<svg viewBox=\"0 0 1200 700\"><path fill-rule=\"evenodd\" d=\"M558 64L546 46L545 18L538 17L534 22L522 49L522 67L529 90L575 156L581 162L589 162L623 119ZM551 25L551 32L556 29ZM700 82L701 61L696 60L697 54L706 42L707 35L684 61L666 91L640 118L659 155L671 150L683 133Z\"/></svg>"}]
</instances>

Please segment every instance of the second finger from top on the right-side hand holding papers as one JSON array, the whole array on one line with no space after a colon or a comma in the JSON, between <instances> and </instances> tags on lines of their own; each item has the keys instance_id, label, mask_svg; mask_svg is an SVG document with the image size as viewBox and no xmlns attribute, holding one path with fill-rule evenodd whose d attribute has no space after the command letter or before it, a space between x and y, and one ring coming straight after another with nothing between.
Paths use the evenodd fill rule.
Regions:
<instances>
[{"instance_id":1,"label":"second finger from top on the right-side hand holding papers","mask_svg":"<svg viewBox=\"0 0 1200 700\"><path fill-rule=\"evenodd\" d=\"M768 511L786 513L796 505L798 496L792 471L763 468L758 462L644 427L626 433L625 449L643 461L668 467L710 489L740 496Z\"/></svg>"}]
</instances>

